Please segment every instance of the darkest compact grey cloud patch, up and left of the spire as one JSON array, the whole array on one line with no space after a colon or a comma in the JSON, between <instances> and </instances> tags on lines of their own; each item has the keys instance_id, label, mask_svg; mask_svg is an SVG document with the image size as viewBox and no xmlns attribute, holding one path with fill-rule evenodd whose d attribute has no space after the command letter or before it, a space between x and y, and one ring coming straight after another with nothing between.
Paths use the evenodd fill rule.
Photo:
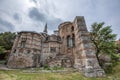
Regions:
<instances>
[{"instance_id":1,"label":"darkest compact grey cloud patch, up and left of the spire","mask_svg":"<svg viewBox=\"0 0 120 80\"><path fill-rule=\"evenodd\" d=\"M39 10L37 8L31 8L30 12L29 12L29 17L36 20L36 21L45 21L46 20L46 16L39 12Z\"/></svg>"}]
</instances>

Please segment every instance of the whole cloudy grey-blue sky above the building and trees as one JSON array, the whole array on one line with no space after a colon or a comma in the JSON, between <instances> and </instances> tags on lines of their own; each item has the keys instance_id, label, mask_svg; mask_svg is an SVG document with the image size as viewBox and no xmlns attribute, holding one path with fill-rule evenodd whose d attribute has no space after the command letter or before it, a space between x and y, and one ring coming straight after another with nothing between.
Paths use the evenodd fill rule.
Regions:
<instances>
[{"instance_id":1,"label":"whole cloudy grey-blue sky above the building and trees","mask_svg":"<svg viewBox=\"0 0 120 80\"><path fill-rule=\"evenodd\" d=\"M51 34L75 16L85 17L88 30L104 21L120 38L120 0L0 0L0 32L41 32L47 23Z\"/></svg>"}]
</instances>

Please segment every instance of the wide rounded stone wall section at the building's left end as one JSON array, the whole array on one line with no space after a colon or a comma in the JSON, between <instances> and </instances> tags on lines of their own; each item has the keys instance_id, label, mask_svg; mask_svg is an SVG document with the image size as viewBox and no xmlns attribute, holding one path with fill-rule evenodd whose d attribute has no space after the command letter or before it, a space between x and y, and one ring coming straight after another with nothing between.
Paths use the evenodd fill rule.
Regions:
<instances>
[{"instance_id":1,"label":"wide rounded stone wall section at the building's left end","mask_svg":"<svg viewBox=\"0 0 120 80\"><path fill-rule=\"evenodd\" d=\"M39 66L43 37L35 32L18 33L7 66L25 68Z\"/></svg>"}]
</instances>

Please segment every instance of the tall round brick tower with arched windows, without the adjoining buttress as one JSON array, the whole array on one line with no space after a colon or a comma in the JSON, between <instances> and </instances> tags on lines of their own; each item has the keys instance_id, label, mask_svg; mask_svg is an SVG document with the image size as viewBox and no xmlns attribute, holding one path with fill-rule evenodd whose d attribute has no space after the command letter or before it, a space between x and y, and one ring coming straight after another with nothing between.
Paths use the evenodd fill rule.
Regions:
<instances>
[{"instance_id":1,"label":"tall round brick tower with arched windows, without the adjoining buttress","mask_svg":"<svg viewBox=\"0 0 120 80\"><path fill-rule=\"evenodd\" d=\"M76 44L73 41L73 36L75 35L74 26L71 22L64 22L59 25L59 36L62 39L61 53L67 55L72 60L72 65L74 65L74 54L76 52ZM70 46L69 46L69 39Z\"/></svg>"}]
</instances>

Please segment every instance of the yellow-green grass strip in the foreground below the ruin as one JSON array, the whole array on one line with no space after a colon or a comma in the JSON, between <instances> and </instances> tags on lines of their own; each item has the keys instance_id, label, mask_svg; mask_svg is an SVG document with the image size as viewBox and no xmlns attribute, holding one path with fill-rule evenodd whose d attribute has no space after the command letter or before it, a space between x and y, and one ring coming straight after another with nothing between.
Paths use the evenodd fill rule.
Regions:
<instances>
[{"instance_id":1,"label":"yellow-green grass strip in the foreground below the ruin","mask_svg":"<svg viewBox=\"0 0 120 80\"><path fill-rule=\"evenodd\" d=\"M114 67L114 73L108 74L105 78L86 78L79 72L25 73L23 70L0 70L0 80L120 80L120 63Z\"/></svg>"}]
</instances>

